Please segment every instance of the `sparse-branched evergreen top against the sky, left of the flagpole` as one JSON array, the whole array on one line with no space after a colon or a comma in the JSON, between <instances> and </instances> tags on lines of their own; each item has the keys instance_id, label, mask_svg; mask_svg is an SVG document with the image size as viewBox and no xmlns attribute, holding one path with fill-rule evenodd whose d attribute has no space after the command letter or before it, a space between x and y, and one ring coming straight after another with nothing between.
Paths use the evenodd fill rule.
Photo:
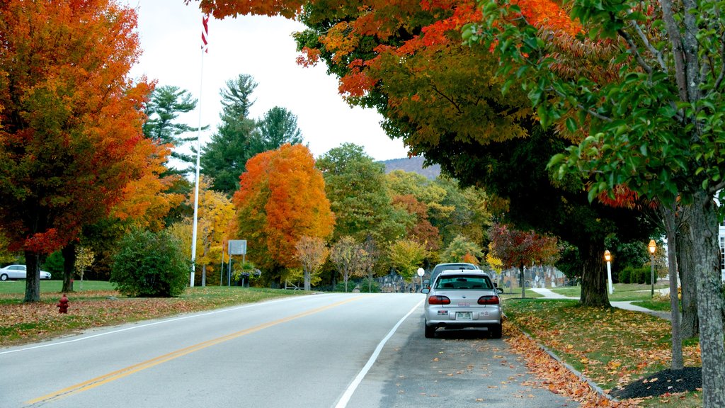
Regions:
<instances>
[{"instance_id":1,"label":"sparse-branched evergreen top against the sky, left of the flagpole","mask_svg":"<svg viewBox=\"0 0 725 408\"><path fill-rule=\"evenodd\" d=\"M186 123L177 123L178 116L196 109L196 99L191 97L186 89L178 86L159 86L151 94L146 103L145 113L148 119L144 123L144 134L157 144L170 144L175 148L186 147L188 143L196 142L196 136L183 136L197 128ZM207 128L208 126L204 126ZM196 147L192 147L196 152ZM196 157L186 152L175 150L172 158L180 160L185 167L173 174L191 174L196 166Z\"/></svg>"}]
</instances>

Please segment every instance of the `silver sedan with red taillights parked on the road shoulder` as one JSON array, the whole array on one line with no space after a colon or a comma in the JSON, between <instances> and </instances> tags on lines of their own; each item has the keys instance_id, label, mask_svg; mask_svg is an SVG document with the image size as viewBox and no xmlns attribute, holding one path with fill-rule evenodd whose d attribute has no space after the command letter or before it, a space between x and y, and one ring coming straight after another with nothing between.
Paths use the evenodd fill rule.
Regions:
<instances>
[{"instance_id":1,"label":"silver sedan with red taillights parked on the road shoulder","mask_svg":"<svg viewBox=\"0 0 725 408\"><path fill-rule=\"evenodd\" d=\"M426 338L434 338L436 329L482 327L492 338L501 338L500 289L480 269L447 270L439 274L426 293L424 306Z\"/></svg>"}]
</instances>

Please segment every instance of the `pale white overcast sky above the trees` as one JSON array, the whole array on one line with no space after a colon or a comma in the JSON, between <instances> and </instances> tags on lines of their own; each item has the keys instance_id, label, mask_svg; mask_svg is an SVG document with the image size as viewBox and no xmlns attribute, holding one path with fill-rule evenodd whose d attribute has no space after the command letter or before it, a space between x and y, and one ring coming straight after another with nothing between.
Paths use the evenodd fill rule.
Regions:
<instances>
[{"instance_id":1,"label":"pale white overcast sky above the trees","mask_svg":"<svg viewBox=\"0 0 725 408\"><path fill-rule=\"evenodd\" d=\"M252 97L252 118L262 118L280 106L297 115L297 127L315 158L344 142L358 144L375 160L407 157L399 139L391 140L380 127L375 110L351 108L338 93L326 67L302 68L295 62L291 33L305 28L283 17L241 16L209 22L209 49L202 60L202 14L196 2L183 0L121 0L138 11L143 54L130 76L146 76L159 86L188 90L201 105L202 144L219 123L220 89L244 73L258 83ZM199 125L199 110L182 121Z\"/></svg>"}]
</instances>

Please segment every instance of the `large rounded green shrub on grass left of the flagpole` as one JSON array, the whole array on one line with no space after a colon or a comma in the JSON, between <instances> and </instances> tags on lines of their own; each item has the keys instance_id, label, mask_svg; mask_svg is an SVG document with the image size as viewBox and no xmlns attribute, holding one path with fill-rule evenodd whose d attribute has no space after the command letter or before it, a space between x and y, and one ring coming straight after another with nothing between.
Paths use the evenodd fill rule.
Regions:
<instances>
[{"instance_id":1,"label":"large rounded green shrub on grass left of the flagpole","mask_svg":"<svg viewBox=\"0 0 725 408\"><path fill-rule=\"evenodd\" d=\"M123 295L168 298L183 293L190 271L175 237L136 230L121 240L110 281Z\"/></svg>"}]
</instances>

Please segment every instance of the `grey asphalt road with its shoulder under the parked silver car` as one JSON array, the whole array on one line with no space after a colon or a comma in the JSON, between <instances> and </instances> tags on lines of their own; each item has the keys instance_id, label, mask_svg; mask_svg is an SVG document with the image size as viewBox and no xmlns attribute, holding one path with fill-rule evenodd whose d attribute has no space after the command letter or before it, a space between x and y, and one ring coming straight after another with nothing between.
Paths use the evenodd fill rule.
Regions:
<instances>
[{"instance_id":1,"label":"grey asphalt road with its shoulder under the parked silver car","mask_svg":"<svg viewBox=\"0 0 725 408\"><path fill-rule=\"evenodd\" d=\"M576 407L423 295L286 298L0 348L0 407Z\"/></svg>"}]
</instances>

